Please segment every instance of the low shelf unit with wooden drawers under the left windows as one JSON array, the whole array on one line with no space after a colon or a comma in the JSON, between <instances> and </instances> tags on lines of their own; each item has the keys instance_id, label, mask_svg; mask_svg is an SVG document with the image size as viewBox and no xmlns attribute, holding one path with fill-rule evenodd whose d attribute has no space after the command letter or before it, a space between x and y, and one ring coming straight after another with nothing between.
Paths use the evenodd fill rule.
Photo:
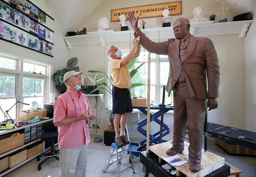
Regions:
<instances>
[{"instance_id":1,"label":"low shelf unit with wooden drawers under the left windows","mask_svg":"<svg viewBox=\"0 0 256 177\"><path fill-rule=\"evenodd\" d=\"M18 128L0 131L0 177L41 154L45 148L40 138L43 123L52 120L41 119L36 123L25 123Z\"/></svg>"}]
</instances>

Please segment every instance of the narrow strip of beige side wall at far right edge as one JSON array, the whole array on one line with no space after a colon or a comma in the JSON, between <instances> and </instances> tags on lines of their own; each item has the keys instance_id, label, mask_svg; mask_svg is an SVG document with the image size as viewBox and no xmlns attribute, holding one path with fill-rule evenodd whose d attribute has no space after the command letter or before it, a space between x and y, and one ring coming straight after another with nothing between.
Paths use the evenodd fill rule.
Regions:
<instances>
[{"instance_id":1,"label":"narrow strip of beige side wall at far right edge","mask_svg":"<svg viewBox=\"0 0 256 177\"><path fill-rule=\"evenodd\" d=\"M256 2L254 20L256 19ZM245 88L246 88L246 129L256 131L256 22L254 21L245 37Z\"/></svg>"}]
</instances>

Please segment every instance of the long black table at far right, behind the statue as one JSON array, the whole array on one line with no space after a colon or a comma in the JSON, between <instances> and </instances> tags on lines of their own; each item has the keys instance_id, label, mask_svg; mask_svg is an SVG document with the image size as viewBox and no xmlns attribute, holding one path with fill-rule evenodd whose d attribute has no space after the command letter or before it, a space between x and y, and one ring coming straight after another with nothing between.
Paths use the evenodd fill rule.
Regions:
<instances>
[{"instance_id":1,"label":"long black table at far right, behind the statue","mask_svg":"<svg viewBox=\"0 0 256 177\"><path fill-rule=\"evenodd\" d=\"M233 128L229 126L223 127L223 125L215 124L215 123L207 123L207 133L210 137L218 138L228 143L245 146L247 148L251 148L256 150L256 132L241 130L239 128ZM223 127L223 128L220 128ZM220 128L214 131L215 128ZM221 133L222 131L230 131L229 133ZM239 136L251 137L254 140L242 139L238 138Z\"/></svg>"}]
</instances>

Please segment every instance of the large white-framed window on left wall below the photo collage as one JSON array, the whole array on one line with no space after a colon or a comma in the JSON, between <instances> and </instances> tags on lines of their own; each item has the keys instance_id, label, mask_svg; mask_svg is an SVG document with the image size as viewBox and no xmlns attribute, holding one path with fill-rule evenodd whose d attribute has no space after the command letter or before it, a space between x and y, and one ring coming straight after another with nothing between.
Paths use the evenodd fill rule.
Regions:
<instances>
[{"instance_id":1,"label":"large white-framed window on left wall below the photo collage","mask_svg":"<svg viewBox=\"0 0 256 177\"><path fill-rule=\"evenodd\" d=\"M43 108L49 95L49 71L49 64L0 54L0 108L3 110L0 110L0 121L10 108L12 119L16 119L21 110ZM29 105L17 103L12 107L17 101Z\"/></svg>"}]
</instances>

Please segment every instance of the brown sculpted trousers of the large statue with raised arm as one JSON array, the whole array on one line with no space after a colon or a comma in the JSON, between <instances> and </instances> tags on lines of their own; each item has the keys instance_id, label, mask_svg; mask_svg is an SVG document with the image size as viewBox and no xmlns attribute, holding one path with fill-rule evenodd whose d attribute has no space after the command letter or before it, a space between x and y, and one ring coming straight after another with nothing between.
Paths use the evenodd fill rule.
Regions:
<instances>
[{"instance_id":1,"label":"brown sculpted trousers of the large statue with raised arm","mask_svg":"<svg viewBox=\"0 0 256 177\"><path fill-rule=\"evenodd\" d=\"M189 160L201 163L206 103L203 99L189 97L188 88L176 87L174 91L174 132L172 148L184 150L186 123L189 124Z\"/></svg>"}]
</instances>

